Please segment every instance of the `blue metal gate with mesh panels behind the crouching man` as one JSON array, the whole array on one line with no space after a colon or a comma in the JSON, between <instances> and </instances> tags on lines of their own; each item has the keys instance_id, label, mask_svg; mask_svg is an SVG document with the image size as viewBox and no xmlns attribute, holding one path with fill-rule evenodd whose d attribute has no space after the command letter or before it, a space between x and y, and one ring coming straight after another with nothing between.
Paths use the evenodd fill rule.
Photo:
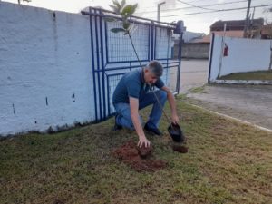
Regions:
<instances>
[{"instance_id":1,"label":"blue metal gate with mesh panels behind the crouching man","mask_svg":"<svg viewBox=\"0 0 272 204\"><path fill-rule=\"evenodd\" d=\"M112 17L113 12L89 7L92 80L94 92L95 121L103 121L115 111L112 105L112 94L124 73L140 68L133 52L128 35L114 34L112 28L121 27L120 22L108 22L105 17ZM119 17L114 15L116 19ZM141 64L158 60L164 67L161 77L172 92L180 90L180 58L172 59L172 31L176 24L161 23L149 19L131 18L133 29L131 38L139 54ZM181 42L181 34L180 34ZM179 46L180 47L180 46Z\"/></svg>"}]
</instances>

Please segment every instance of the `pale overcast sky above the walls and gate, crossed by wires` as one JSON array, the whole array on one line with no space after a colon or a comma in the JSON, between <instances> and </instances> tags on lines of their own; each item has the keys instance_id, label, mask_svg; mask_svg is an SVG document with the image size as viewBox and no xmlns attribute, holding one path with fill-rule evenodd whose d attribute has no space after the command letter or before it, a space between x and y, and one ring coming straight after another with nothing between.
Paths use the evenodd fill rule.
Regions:
<instances>
[{"instance_id":1,"label":"pale overcast sky above the walls and gate, crossed by wires","mask_svg":"<svg viewBox=\"0 0 272 204\"><path fill-rule=\"evenodd\" d=\"M1 0L0 0L1 1ZM2 0L5 2L11 2L17 4L17 0ZM181 2L180 2L181 1ZM209 34L209 26L219 20L243 20L246 18L247 9L217 12L217 13L204 13L189 15L192 13L209 12L208 9L229 9L238 7L247 7L247 0L127 0L127 4L138 3L138 9L135 15L157 19L157 5L160 5L160 21L162 22L177 22L183 20L184 25L187 27L187 31L196 33ZM121 0L120 0L121 2ZM202 6L191 7L184 3ZM224 4L224 5L215 5ZM50 10L65 11L69 13L79 13L83 8L87 6L102 6L104 9L112 10L109 5L112 5L112 1L107 0L32 0L30 3L23 2L22 5L31 5L37 7L44 7ZM252 0L250 13L253 13L254 5L270 5L267 7L260 7L255 9L254 18L263 17L267 20L267 23L272 23L272 12L264 12L267 8L272 8L271 0Z\"/></svg>"}]
</instances>

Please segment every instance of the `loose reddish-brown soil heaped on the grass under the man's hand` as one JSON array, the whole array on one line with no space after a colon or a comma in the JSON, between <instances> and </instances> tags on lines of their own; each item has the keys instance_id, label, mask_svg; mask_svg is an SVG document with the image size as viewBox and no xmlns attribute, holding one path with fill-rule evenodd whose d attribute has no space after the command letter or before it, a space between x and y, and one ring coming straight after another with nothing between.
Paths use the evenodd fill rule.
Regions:
<instances>
[{"instance_id":1,"label":"loose reddish-brown soil heaped on the grass under the man's hand","mask_svg":"<svg viewBox=\"0 0 272 204\"><path fill-rule=\"evenodd\" d=\"M113 151L113 155L126 164L130 165L132 169L137 171L155 171L165 168L166 161L163 160L151 160L151 148L137 148L134 141L129 141ZM142 155L144 155L142 157Z\"/></svg>"}]
</instances>

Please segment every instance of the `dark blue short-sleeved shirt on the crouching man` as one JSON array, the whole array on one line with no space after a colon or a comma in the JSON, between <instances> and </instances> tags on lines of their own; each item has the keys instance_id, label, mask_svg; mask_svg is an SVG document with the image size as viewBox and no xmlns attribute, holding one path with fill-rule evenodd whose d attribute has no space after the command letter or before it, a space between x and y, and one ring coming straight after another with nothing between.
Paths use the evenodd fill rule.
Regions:
<instances>
[{"instance_id":1,"label":"dark blue short-sleeved shirt on the crouching man","mask_svg":"<svg viewBox=\"0 0 272 204\"><path fill-rule=\"evenodd\" d=\"M154 84L157 88L162 88L164 83L159 78ZM129 97L139 99L141 94L148 92L151 87L144 82L143 70L133 70L130 73L125 73L117 84L113 92L113 104L119 102L129 103Z\"/></svg>"}]
</instances>

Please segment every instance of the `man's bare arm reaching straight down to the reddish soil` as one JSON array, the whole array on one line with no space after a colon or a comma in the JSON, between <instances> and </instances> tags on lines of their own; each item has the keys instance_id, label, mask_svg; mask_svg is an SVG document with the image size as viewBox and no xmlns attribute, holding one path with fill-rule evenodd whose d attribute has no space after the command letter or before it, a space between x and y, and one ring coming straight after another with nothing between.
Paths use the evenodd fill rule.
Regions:
<instances>
[{"instance_id":1,"label":"man's bare arm reaching straight down to the reddish soil","mask_svg":"<svg viewBox=\"0 0 272 204\"><path fill-rule=\"evenodd\" d=\"M150 146L150 141L145 137L145 134L142 130L141 121L139 119L139 100L133 97L130 97L130 107L131 107L131 120L133 122L135 131L138 134L139 142L138 146L144 145L145 147Z\"/></svg>"}]
</instances>

